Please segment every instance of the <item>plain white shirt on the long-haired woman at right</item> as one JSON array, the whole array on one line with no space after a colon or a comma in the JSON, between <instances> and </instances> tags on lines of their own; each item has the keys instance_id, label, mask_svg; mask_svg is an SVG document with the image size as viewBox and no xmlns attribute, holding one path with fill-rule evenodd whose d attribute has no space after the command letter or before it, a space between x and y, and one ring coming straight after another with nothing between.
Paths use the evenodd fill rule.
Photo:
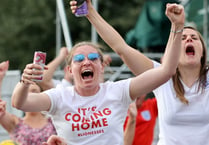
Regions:
<instances>
[{"instance_id":1,"label":"plain white shirt on the long-haired woman at right","mask_svg":"<svg viewBox=\"0 0 209 145\"><path fill-rule=\"evenodd\" d=\"M172 79L154 90L160 127L158 145L209 145L209 76L202 94L197 93L198 83L191 88L183 86L188 105L176 97Z\"/></svg>"}]
</instances>

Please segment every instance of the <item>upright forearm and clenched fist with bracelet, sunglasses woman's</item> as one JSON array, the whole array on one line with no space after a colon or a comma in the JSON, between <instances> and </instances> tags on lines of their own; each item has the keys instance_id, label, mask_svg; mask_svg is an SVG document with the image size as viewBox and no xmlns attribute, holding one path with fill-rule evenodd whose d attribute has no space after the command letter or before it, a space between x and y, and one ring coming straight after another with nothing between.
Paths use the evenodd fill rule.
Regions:
<instances>
[{"instance_id":1,"label":"upright forearm and clenched fist with bracelet, sunglasses woman's","mask_svg":"<svg viewBox=\"0 0 209 145\"><path fill-rule=\"evenodd\" d=\"M171 31L162 64L165 72L174 74L181 52L181 39L185 21L184 8L182 5L168 3L165 14L171 22Z\"/></svg>"}]
</instances>

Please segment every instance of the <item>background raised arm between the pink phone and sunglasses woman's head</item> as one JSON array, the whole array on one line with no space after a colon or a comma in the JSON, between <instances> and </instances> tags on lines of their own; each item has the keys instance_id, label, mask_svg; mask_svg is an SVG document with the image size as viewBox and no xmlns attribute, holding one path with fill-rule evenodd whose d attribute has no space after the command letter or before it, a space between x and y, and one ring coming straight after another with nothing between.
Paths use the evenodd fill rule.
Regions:
<instances>
[{"instance_id":1,"label":"background raised arm between the pink phone and sunglasses woman's head","mask_svg":"<svg viewBox=\"0 0 209 145\"><path fill-rule=\"evenodd\" d=\"M44 70L43 80L39 82L39 85L43 90L48 90L55 87L53 83L54 72L63 62L65 62L65 58L67 57L67 55L67 47L62 47L60 49L59 55L55 59L53 59L49 64L47 64L47 69Z\"/></svg>"}]
</instances>

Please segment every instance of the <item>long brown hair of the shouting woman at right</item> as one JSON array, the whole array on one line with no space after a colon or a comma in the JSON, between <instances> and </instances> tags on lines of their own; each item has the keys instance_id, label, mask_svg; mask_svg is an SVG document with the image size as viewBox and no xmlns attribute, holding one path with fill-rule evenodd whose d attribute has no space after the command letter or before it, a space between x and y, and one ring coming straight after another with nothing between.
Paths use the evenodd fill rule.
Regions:
<instances>
[{"instance_id":1,"label":"long brown hair of the shouting woman at right","mask_svg":"<svg viewBox=\"0 0 209 145\"><path fill-rule=\"evenodd\" d=\"M197 31L197 29L195 29L194 27L191 26L185 26L184 29L192 29L195 30L199 36L199 39L202 43L202 47L203 47L203 56L201 58L201 68L200 68L200 73L199 73L199 79L198 79L198 90L197 91L201 91L203 92L206 86L206 81L207 81L207 71L208 71L208 66L207 66L207 49L204 43L204 39L202 37L202 35L200 34L199 31ZM176 74L172 77L173 80L173 85L174 85L174 89L176 92L177 97L180 99L180 101L184 104L189 104L188 100L185 98L184 93L184 87L183 84L180 81L180 72L177 68L176 70Z\"/></svg>"}]
</instances>

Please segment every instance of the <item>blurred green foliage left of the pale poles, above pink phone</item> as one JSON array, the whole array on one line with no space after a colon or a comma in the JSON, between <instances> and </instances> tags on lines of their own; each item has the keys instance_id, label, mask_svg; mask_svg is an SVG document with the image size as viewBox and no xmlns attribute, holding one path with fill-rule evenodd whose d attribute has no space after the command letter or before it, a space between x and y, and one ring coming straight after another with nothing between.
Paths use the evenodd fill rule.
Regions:
<instances>
[{"instance_id":1,"label":"blurred green foliage left of the pale poles, above pink phone","mask_svg":"<svg viewBox=\"0 0 209 145\"><path fill-rule=\"evenodd\" d=\"M55 47L55 3L50 0L2 0L0 5L0 60L10 69L23 69L34 51L50 56ZM48 53L49 52L49 53Z\"/></svg>"}]
</instances>

